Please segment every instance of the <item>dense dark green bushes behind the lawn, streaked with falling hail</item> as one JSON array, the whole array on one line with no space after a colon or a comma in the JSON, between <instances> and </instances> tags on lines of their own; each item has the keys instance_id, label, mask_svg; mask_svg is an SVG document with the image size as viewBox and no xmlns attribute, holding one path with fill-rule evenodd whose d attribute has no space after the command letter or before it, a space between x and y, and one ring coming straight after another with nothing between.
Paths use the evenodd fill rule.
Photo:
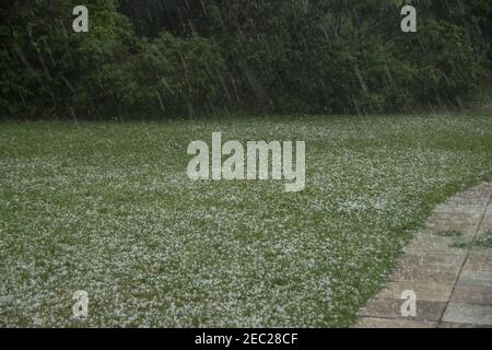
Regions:
<instances>
[{"instance_id":1,"label":"dense dark green bushes behind the lawn, streaked with falling hail","mask_svg":"<svg viewBox=\"0 0 492 350\"><path fill-rule=\"evenodd\" d=\"M488 0L72 0L0 8L2 115L370 113L465 104L491 71Z\"/></svg>"}]
</instances>

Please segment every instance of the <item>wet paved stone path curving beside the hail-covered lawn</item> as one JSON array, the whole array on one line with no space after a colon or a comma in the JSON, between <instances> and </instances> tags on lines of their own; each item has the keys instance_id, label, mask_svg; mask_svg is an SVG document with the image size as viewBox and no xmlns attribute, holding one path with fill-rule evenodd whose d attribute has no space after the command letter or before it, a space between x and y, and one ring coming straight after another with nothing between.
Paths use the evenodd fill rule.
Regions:
<instances>
[{"instance_id":1,"label":"wet paved stone path curving beside the hail-covered lawn","mask_svg":"<svg viewBox=\"0 0 492 350\"><path fill-rule=\"evenodd\" d=\"M492 183L438 206L355 327L492 327L491 234ZM409 290L417 315L405 317Z\"/></svg>"}]
</instances>

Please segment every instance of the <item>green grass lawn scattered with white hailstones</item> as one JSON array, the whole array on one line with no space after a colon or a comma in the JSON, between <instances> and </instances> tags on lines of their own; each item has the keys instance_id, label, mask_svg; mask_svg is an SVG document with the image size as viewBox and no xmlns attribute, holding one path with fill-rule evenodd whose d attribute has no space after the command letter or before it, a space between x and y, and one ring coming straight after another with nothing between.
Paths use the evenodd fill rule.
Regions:
<instances>
[{"instance_id":1,"label":"green grass lawn scattered with white hailstones","mask_svg":"<svg viewBox=\"0 0 492 350\"><path fill-rule=\"evenodd\" d=\"M306 141L305 190L191 182L212 131ZM490 173L492 113L0 122L0 326L348 326Z\"/></svg>"}]
</instances>

